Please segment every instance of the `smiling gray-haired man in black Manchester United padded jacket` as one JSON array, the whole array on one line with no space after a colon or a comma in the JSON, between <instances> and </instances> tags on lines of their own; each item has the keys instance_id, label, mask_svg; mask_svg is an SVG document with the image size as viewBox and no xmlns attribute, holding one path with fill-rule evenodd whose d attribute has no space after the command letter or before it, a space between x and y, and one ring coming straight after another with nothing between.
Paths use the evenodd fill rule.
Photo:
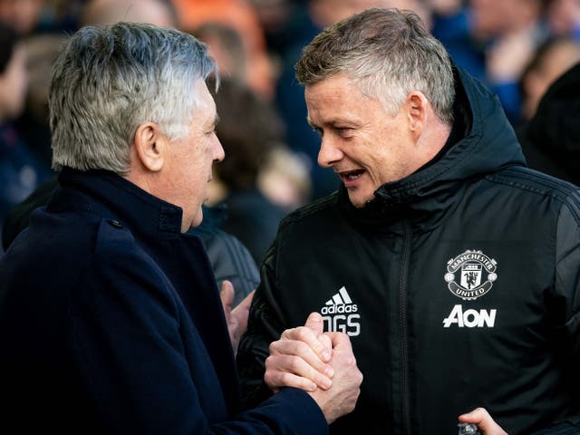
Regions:
<instances>
[{"instance_id":1,"label":"smiling gray-haired man in black Manchester United padded jacket","mask_svg":"<svg viewBox=\"0 0 580 435\"><path fill-rule=\"evenodd\" d=\"M364 375L333 434L578 433L580 191L526 168L498 99L416 14L327 27L296 77L342 186L278 229L237 353L246 396L332 385L319 333L278 339L319 311Z\"/></svg>"}]
</instances>

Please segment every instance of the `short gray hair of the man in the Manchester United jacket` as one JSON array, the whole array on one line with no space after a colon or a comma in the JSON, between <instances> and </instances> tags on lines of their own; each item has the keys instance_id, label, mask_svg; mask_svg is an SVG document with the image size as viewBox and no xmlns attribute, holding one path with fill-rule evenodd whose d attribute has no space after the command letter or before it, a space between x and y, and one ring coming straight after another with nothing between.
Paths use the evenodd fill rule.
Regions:
<instances>
[{"instance_id":1,"label":"short gray hair of the man in the Manchester United jacket","mask_svg":"<svg viewBox=\"0 0 580 435\"><path fill-rule=\"evenodd\" d=\"M345 18L318 34L296 63L304 86L339 73L392 115L410 92L420 91L441 121L453 120L449 54L411 11L372 8Z\"/></svg>"}]
</instances>

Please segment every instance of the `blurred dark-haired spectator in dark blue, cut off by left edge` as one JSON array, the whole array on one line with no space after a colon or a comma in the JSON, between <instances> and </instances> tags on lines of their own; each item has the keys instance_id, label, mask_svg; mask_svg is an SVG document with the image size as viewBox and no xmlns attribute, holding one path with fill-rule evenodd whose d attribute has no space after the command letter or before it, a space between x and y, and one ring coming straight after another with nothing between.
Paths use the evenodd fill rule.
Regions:
<instances>
[{"instance_id":1,"label":"blurred dark-haired spectator in dark blue, cut off by left edge","mask_svg":"<svg viewBox=\"0 0 580 435\"><path fill-rule=\"evenodd\" d=\"M26 53L14 30L0 24L0 229L5 214L48 175L12 121L24 108Z\"/></svg>"}]
</instances>

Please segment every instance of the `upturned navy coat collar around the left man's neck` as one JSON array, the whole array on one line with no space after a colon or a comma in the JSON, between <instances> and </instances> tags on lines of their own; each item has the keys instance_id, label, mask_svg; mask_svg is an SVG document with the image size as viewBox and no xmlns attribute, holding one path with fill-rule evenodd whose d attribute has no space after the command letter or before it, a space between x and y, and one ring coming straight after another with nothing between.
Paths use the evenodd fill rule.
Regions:
<instances>
[{"instance_id":1,"label":"upturned navy coat collar around the left man's neck","mask_svg":"<svg viewBox=\"0 0 580 435\"><path fill-rule=\"evenodd\" d=\"M73 209L119 220L148 237L181 234L182 209L106 170L63 168L49 209Z\"/></svg>"}]
</instances>

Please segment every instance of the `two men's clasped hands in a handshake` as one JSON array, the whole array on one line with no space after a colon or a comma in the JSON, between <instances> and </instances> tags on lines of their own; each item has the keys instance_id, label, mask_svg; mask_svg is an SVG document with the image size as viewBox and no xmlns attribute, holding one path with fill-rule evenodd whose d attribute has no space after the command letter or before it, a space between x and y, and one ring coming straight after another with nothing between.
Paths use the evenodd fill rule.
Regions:
<instances>
[{"instance_id":1,"label":"two men's clasped hands in a handshake","mask_svg":"<svg viewBox=\"0 0 580 435\"><path fill-rule=\"evenodd\" d=\"M348 335L323 331L321 315L312 313L304 326L282 333L270 344L264 381L274 391L281 387L307 391L330 424L353 411L362 373Z\"/></svg>"}]
</instances>

